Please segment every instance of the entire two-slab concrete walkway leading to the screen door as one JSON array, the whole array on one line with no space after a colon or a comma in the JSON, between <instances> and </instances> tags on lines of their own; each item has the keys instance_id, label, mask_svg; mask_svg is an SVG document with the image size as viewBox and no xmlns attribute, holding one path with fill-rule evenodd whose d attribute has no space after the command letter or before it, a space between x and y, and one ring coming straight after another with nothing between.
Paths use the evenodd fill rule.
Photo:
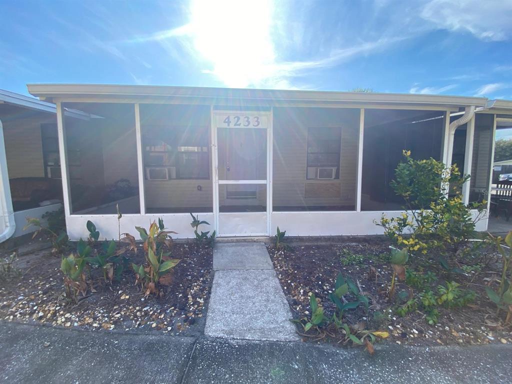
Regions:
<instances>
[{"instance_id":1,"label":"entire two-slab concrete walkway leading to the screen door","mask_svg":"<svg viewBox=\"0 0 512 384\"><path fill-rule=\"evenodd\" d=\"M232 339L298 340L263 243L218 243L205 334Z\"/></svg>"}]
</instances>

